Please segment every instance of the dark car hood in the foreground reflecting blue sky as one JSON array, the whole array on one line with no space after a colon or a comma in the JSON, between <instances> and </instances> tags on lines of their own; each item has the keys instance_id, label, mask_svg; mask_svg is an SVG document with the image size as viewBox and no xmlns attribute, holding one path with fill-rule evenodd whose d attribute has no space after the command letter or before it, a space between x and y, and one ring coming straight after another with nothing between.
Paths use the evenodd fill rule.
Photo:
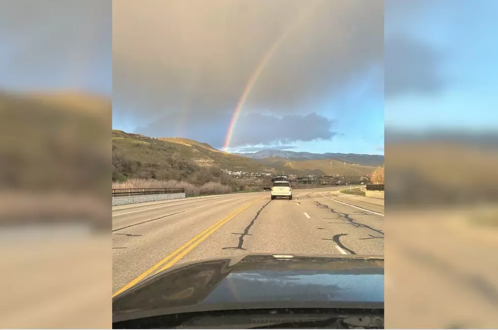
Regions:
<instances>
[{"instance_id":1,"label":"dark car hood in the foreground reflecting blue sky","mask_svg":"<svg viewBox=\"0 0 498 330\"><path fill-rule=\"evenodd\" d=\"M181 264L116 296L113 321L179 312L384 308L384 258L248 255Z\"/></svg>"}]
</instances>

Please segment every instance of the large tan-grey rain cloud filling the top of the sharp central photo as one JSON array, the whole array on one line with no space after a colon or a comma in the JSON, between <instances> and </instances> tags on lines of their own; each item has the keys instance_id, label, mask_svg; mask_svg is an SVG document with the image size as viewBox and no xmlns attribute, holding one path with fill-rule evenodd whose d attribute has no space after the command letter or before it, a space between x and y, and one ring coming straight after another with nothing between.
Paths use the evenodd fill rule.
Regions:
<instances>
[{"instance_id":1,"label":"large tan-grey rain cloud filling the top of the sharp central photo","mask_svg":"<svg viewBox=\"0 0 498 330\"><path fill-rule=\"evenodd\" d=\"M228 128L251 75L289 26L295 28L261 71L242 114L307 115L310 108L341 93L370 68L382 66L384 54L382 0L321 0L313 9L314 4L301 0L113 2L114 115L139 121L144 130L154 127L149 132L162 136L169 131L166 127L161 131L153 122L179 116L187 118L191 127L217 123L214 134L219 135ZM309 17L301 22L300 15L310 8ZM375 83L382 91L383 81ZM331 110L335 117L334 111L354 109ZM267 134L263 127L253 129ZM268 138L282 138L258 139L256 132L244 132L249 136L237 131L239 145L269 144ZM283 138L303 138L299 130L290 133ZM319 134L326 135L330 136ZM193 136L198 134L187 137ZM220 137L201 139L219 141Z\"/></svg>"}]
</instances>

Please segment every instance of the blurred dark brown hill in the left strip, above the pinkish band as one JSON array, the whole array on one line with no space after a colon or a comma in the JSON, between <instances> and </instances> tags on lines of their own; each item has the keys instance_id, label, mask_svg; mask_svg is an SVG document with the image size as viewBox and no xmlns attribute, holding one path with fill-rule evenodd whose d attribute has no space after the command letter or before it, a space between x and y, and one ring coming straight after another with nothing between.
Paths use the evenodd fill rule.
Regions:
<instances>
[{"instance_id":1,"label":"blurred dark brown hill in the left strip, above the pinkish band","mask_svg":"<svg viewBox=\"0 0 498 330\"><path fill-rule=\"evenodd\" d=\"M95 189L108 181L111 100L84 93L0 91L0 185ZM3 124L3 125L2 125Z\"/></svg>"}]
</instances>

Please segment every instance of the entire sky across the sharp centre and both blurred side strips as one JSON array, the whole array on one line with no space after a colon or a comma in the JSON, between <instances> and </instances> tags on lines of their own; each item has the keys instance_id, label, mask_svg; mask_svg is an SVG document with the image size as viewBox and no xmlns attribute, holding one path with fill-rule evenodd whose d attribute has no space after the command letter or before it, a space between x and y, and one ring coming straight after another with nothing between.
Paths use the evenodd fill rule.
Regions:
<instances>
[{"instance_id":1,"label":"entire sky across the sharp centre and both blurred side strips","mask_svg":"<svg viewBox=\"0 0 498 330\"><path fill-rule=\"evenodd\" d=\"M383 154L385 126L496 129L497 12L494 0L3 1L0 89L112 96L114 129L217 148L232 128L229 151Z\"/></svg>"}]
</instances>

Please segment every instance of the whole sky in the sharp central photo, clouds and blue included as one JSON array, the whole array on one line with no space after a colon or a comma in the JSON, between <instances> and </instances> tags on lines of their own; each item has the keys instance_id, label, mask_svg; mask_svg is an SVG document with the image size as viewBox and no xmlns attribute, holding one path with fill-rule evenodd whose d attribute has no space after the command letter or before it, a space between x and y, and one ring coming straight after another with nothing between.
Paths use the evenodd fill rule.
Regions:
<instances>
[{"instance_id":1,"label":"whole sky in the sharp central photo, clouds and blue included","mask_svg":"<svg viewBox=\"0 0 498 330\"><path fill-rule=\"evenodd\" d=\"M383 153L383 1L120 0L112 14L114 129Z\"/></svg>"}]
</instances>

